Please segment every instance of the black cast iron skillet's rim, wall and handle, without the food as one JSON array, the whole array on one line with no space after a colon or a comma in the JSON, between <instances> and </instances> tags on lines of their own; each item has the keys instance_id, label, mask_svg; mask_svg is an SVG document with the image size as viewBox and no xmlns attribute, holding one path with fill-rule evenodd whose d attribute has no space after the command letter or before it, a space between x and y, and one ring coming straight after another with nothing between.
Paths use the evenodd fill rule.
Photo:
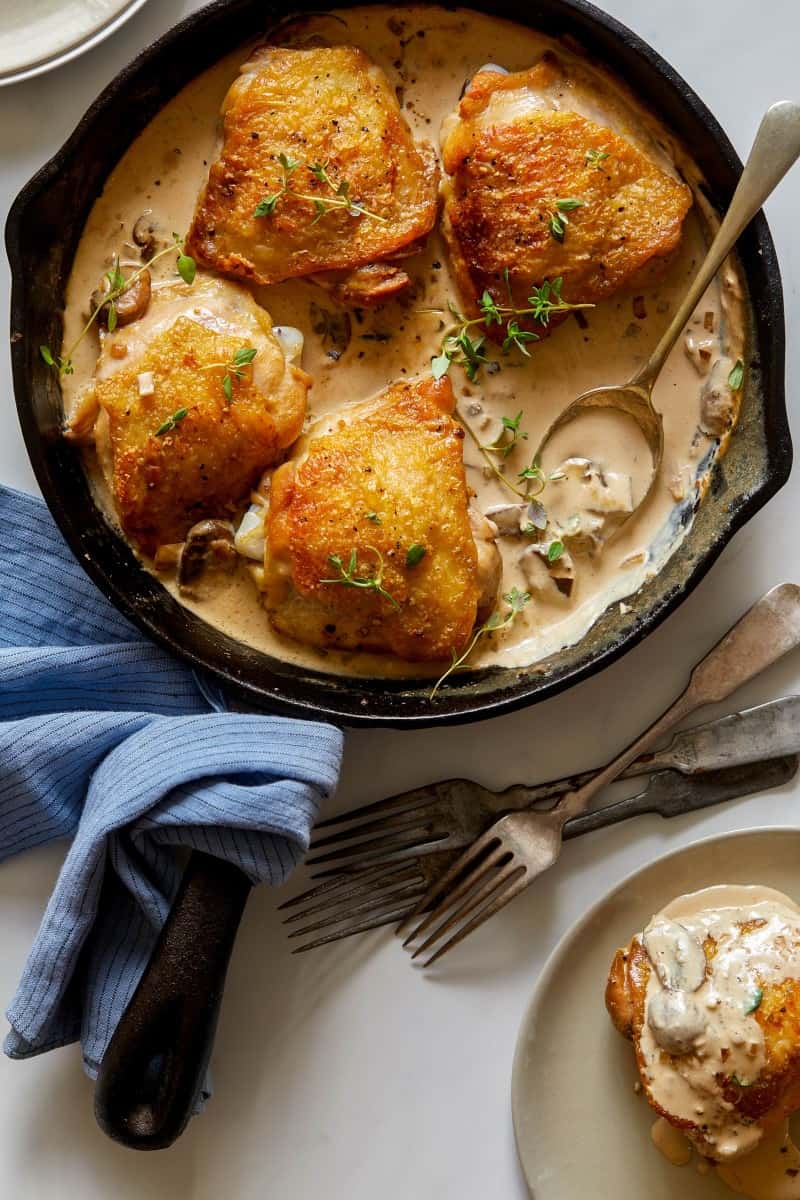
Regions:
<instances>
[{"instance_id":1,"label":"black cast iron skillet's rim, wall and handle, without the food","mask_svg":"<svg viewBox=\"0 0 800 1200\"><path fill-rule=\"evenodd\" d=\"M291 11L311 11L299 0ZM342 0L341 7L348 7ZM741 164L691 88L649 46L585 0L465 4L579 42L615 70L692 152L724 208ZM251 706L401 728L453 724L535 703L601 670L634 646L697 586L724 545L786 482L792 443L783 392L783 304L775 250L760 216L739 252L751 299L750 370L739 428L715 466L693 526L666 569L621 616L536 671L485 671L445 690L428 683L336 679L270 659L178 605L144 571L92 502L78 452L60 436L58 382L40 343L60 343L59 308L85 220L110 169L186 83L289 10L218 0L140 54L89 109L64 149L14 203L6 230L12 266L12 364L19 419L42 493L68 545L101 590L148 636L216 676ZM169 1145L192 1111L209 1061L228 958L248 883L235 868L192 856L173 912L118 1026L98 1081L103 1128L139 1148ZM201 947L201 953L198 953Z\"/></svg>"}]
</instances>

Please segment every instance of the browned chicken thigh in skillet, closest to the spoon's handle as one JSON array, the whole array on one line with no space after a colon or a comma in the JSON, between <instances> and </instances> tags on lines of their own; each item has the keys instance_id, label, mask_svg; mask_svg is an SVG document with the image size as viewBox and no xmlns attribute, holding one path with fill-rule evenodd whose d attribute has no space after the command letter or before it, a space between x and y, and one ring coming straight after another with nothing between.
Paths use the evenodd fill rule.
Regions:
<instances>
[{"instance_id":1,"label":"browned chicken thigh in skillet, closest to the spoon's handle","mask_svg":"<svg viewBox=\"0 0 800 1200\"><path fill-rule=\"evenodd\" d=\"M557 278L565 300L594 304L679 245L690 190L619 118L615 131L573 110L591 86L552 54L515 74L483 70L445 122L444 229L470 314L485 290L509 304L506 272L518 308ZM543 336L559 319L528 324Z\"/></svg>"}]
</instances>

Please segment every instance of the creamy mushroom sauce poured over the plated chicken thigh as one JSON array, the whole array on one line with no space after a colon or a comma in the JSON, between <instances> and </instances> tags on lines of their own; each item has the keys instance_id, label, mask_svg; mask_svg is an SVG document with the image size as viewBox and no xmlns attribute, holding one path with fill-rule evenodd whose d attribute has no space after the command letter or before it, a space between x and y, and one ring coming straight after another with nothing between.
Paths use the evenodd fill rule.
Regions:
<instances>
[{"instance_id":1,"label":"creamy mushroom sauce poured over the plated chicken thigh","mask_svg":"<svg viewBox=\"0 0 800 1200\"><path fill-rule=\"evenodd\" d=\"M706 937L716 942L708 967ZM760 1126L740 1121L717 1075L735 1075L745 1086L758 1079L765 1057L754 1013L764 983L800 977L800 908L771 888L705 888L657 913L640 940L654 966L639 1040L639 1069L651 1098L700 1126L717 1174L734 1192L751 1200L796 1200L800 1153L788 1122L765 1135ZM690 1160L688 1142L663 1118L655 1122L652 1140L670 1163Z\"/></svg>"}]
</instances>

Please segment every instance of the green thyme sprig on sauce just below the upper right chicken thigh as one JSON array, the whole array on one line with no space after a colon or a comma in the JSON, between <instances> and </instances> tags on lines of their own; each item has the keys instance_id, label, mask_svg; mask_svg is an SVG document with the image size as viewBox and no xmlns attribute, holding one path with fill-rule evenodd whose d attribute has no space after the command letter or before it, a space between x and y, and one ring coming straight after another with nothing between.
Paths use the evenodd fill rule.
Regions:
<instances>
[{"instance_id":1,"label":"green thyme sprig on sauce just below the upper right chicken thigh","mask_svg":"<svg viewBox=\"0 0 800 1200\"><path fill-rule=\"evenodd\" d=\"M431 360L431 372L434 379L441 379L453 362L464 368L467 378L474 383L477 373L489 359L486 354L486 334L474 336L479 328L489 330L492 325L500 325L505 331L503 340L503 352L509 354L512 349L521 350L525 358L530 358L528 344L539 341L539 334L519 328L519 319L528 318L539 325L547 326L551 317L555 312L572 312L576 308L594 308L591 304L570 304L561 295L564 286L563 276L557 280L545 280L541 287L531 288L528 296L528 307L517 308L511 292L511 277L509 268L503 272L503 278L509 296L507 304L498 304L489 292L485 292L479 300L480 317L465 317L452 302L447 308L455 318L452 325L445 329L441 336L441 348ZM440 310L426 310L438 312Z\"/></svg>"}]
</instances>

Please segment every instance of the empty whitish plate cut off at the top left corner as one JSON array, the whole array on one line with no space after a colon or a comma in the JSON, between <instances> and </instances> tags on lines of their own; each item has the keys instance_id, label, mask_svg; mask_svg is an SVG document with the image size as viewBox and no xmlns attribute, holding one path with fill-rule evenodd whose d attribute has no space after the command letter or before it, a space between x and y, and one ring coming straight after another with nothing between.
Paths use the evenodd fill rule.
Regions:
<instances>
[{"instance_id":1,"label":"empty whitish plate cut off at the top left corner","mask_svg":"<svg viewBox=\"0 0 800 1200\"><path fill-rule=\"evenodd\" d=\"M102 42L146 0L0 0L0 86Z\"/></svg>"}]
</instances>

